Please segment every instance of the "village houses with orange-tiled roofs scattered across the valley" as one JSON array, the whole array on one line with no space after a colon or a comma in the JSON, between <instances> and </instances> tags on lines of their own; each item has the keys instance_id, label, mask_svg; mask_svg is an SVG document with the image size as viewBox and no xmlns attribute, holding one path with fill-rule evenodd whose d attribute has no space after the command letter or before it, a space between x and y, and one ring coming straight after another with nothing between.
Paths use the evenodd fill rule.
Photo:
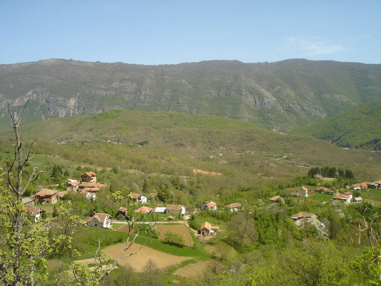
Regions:
<instances>
[{"instance_id":1,"label":"village houses with orange-tiled roofs scattered across the valley","mask_svg":"<svg viewBox=\"0 0 381 286\"><path fill-rule=\"evenodd\" d=\"M106 185L97 183L96 176L97 174L94 172L86 172L81 176L82 182L79 180L68 179L69 183L67 183L66 191L55 191L50 190L48 188L43 188L42 190L38 191L34 196L23 198L22 202L24 203L25 209L29 213L32 222L38 222L38 220L41 217L43 217L44 212L46 212L46 210L44 209L44 205L46 206L56 204L64 195L70 192L78 192L79 194L81 194L83 198L85 198L88 201L96 200L97 194L99 194L99 192L104 191L104 188L106 188ZM314 175L314 178L317 180L322 180L321 175ZM308 197L311 198L313 196L316 196L316 194L320 193L329 195L330 203L361 203L363 202L363 199L360 196L354 196L354 194L356 193L356 191L357 193L359 193L358 191L360 190L368 191L369 189L381 190L381 180L376 180L375 182L362 182L347 185L340 191L333 191L323 186L318 186L314 189L309 189L304 186L301 186L300 188L297 188L297 190L285 192L283 197L281 195L276 195L269 198L268 200L272 203L277 203L280 205L282 203L285 203L284 197L296 197L307 199ZM166 204L165 206L162 206L162 203L158 200L158 196L156 193L142 194L131 192L130 195L134 201L142 205L141 207L136 208L134 210L136 214L165 214L167 215L165 217L165 220L169 222L174 220L174 218L178 216L182 220L180 223L183 223L186 222L186 220L189 220L192 214L197 214L202 211L221 212L221 210L223 209L229 213L244 212L244 205L240 202L232 202L221 208L218 207L218 204L216 202L208 200L205 201L204 204L202 204L198 208L192 208L190 213L184 205ZM152 206L152 204L150 204L151 206L149 207L144 206L144 204L150 202L149 198L152 199L153 202L158 202L158 206ZM328 201L320 202L320 204L327 203ZM251 213L252 211L252 209L247 210L248 213ZM125 218L126 209L124 207L120 207L117 211L116 217ZM299 212L297 214L291 215L291 219L295 221L296 225L301 227L303 226L303 222L310 222L311 219L317 219L317 214L312 212ZM120 223L120 221L116 220L115 218L112 218L110 214L94 212L92 216L87 217L85 225L87 225L88 227L113 230L113 225L117 225L117 227L119 227L118 223ZM320 222L319 226L325 227L325 225ZM211 223L205 221L195 232L195 235L197 236L197 238L203 239L209 236L216 235L219 231L221 230L218 225L213 226L211 225Z\"/></svg>"}]
</instances>

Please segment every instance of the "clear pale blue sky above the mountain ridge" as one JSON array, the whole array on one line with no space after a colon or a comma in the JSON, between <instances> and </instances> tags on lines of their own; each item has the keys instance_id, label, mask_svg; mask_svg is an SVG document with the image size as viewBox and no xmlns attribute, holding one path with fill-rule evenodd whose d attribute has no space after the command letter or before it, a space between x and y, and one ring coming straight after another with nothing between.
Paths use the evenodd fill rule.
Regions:
<instances>
[{"instance_id":1,"label":"clear pale blue sky above the mountain ridge","mask_svg":"<svg viewBox=\"0 0 381 286\"><path fill-rule=\"evenodd\" d=\"M381 0L0 0L0 64L381 63Z\"/></svg>"}]
</instances>

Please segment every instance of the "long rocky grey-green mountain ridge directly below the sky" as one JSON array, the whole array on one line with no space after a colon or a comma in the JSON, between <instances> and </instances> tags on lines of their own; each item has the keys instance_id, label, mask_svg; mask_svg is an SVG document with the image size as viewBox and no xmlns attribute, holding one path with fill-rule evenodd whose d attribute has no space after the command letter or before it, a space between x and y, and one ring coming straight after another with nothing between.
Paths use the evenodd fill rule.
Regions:
<instances>
[{"instance_id":1,"label":"long rocky grey-green mountain ridge directly below the sky","mask_svg":"<svg viewBox=\"0 0 381 286\"><path fill-rule=\"evenodd\" d=\"M290 132L355 104L381 100L381 65L290 59L144 66L64 59L0 65L0 118L31 97L25 118L109 109L179 111L239 119Z\"/></svg>"}]
</instances>

